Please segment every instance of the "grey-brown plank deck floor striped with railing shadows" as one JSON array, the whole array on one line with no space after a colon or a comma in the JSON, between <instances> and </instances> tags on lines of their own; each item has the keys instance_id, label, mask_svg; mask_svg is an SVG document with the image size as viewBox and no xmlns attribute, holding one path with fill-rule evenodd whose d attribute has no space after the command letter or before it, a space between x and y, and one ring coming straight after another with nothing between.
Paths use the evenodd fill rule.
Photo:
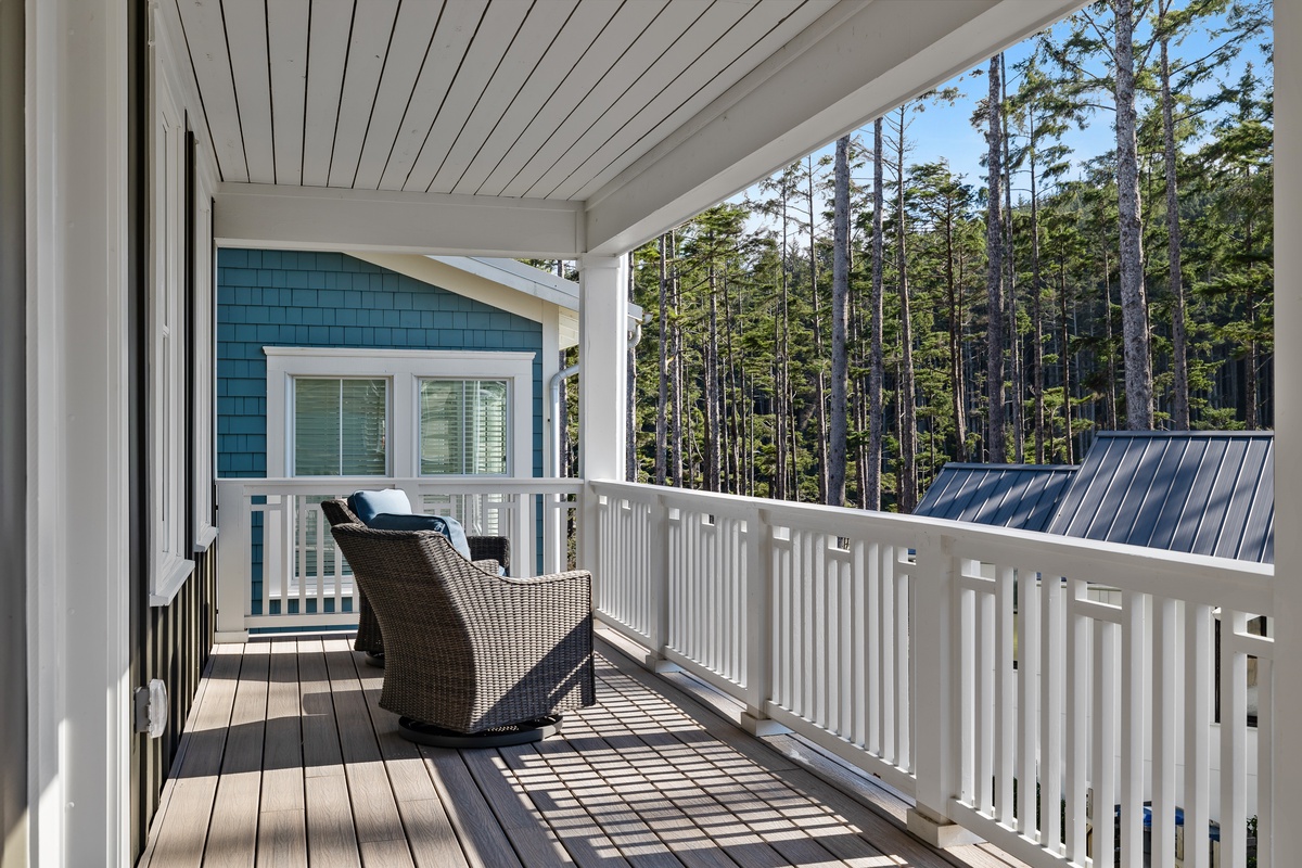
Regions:
<instances>
[{"instance_id":1,"label":"grey-brown plank deck floor striped with railing shadows","mask_svg":"<svg viewBox=\"0 0 1302 868\"><path fill-rule=\"evenodd\" d=\"M402 740L342 638L219 645L141 865L1017 864L931 850L609 648L598 671L561 738L458 752Z\"/></svg>"}]
</instances>

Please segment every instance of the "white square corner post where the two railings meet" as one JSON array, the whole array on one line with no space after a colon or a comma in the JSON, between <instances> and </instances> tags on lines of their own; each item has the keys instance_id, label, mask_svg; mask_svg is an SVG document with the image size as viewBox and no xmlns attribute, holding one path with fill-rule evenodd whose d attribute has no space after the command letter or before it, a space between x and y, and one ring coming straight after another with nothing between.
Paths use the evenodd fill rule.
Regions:
<instances>
[{"instance_id":1,"label":"white square corner post where the two railings meet","mask_svg":"<svg viewBox=\"0 0 1302 868\"><path fill-rule=\"evenodd\" d=\"M578 462L583 479L624 479L628 256L585 255L578 275ZM596 504L583 496L579 566L598 565ZM594 593L600 599L600 575Z\"/></svg>"}]
</instances>

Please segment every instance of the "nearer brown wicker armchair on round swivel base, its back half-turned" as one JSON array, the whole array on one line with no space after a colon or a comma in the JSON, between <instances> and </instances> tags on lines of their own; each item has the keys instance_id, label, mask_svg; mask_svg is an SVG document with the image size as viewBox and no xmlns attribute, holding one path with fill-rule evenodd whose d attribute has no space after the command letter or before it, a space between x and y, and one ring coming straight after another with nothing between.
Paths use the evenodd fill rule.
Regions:
<instances>
[{"instance_id":1,"label":"nearer brown wicker armchair on round swivel base, its back half-turned","mask_svg":"<svg viewBox=\"0 0 1302 868\"><path fill-rule=\"evenodd\" d=\"M406 738L535 740L595 703L587 571L513 579L435 531L331 530L384 631L380 708L402 717Z\"/></svg>"}]
</instances>

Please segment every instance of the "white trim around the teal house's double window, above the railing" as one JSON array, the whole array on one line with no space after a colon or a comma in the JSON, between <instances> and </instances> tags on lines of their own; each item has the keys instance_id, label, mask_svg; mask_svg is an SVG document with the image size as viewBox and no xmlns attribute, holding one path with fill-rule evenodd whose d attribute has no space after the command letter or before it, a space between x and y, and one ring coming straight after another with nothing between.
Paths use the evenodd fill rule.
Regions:
<instances>
[{"instance_id":1,"label":"white trim around the teal house's double window, above the railing","mask_svg":"<svg viewBox=\"0 0 1302 868\"><path fill-rule=\"evenodd\" d=\"M421 380L505 380L510 390L506 476L533 476L534 353L371 350L264 346L267 354L267 476L286 478L293 455L289 409L296 376L385 377L389 387L389 475L421 475ZM400 397L401 396L401 397Z\"/></svg>"}]
</instances>

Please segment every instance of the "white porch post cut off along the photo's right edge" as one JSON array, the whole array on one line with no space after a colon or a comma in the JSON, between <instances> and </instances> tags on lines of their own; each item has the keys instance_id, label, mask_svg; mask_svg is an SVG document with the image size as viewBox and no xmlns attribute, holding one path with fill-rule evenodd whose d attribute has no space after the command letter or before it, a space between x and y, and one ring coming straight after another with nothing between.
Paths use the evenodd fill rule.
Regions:
<instances>
[{"instance_id":1,"label":"white porch post cut off along the photo's right edge","mask_svg":"<svg viewBox=\"0 0 1302 868\"><path fill-rule=\"evenodd\" d=\"M1275 81L1302 79L1302 7L1275 4ZM1275 88L1275 824L1276 865L1302 854L1302 91Z\"/></svg>"}]
</instances>

